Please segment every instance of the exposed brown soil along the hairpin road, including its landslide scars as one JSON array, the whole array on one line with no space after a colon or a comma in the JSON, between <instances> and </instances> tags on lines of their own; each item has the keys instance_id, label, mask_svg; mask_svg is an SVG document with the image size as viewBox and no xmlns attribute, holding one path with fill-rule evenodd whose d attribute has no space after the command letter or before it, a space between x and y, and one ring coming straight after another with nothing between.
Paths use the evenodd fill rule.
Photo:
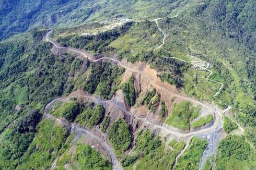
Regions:
<instances>
[{"instance_id":1,"label":"exposed brown soil along the hairpin road, including its landslide scars","mask_svg":"<svg viewBox=\"0 0 256 170\"><path fill-rule=\"evenodd\" d=\"M217 106L206 104L200 101L197 101L193 98L190 98L184 94L181 94L179 90L177 90L174 86L171 86L168 83L161 82L161 80L157 77L157 72L154 69L151 69L149 65L145 63L138 62L136 64L128 63L126 60L118 60L116 58L111 58L108 56L102 56L101 58L95 58L94 56L83 52L78 49L69 48L69 47L61 47L57 45L56 42L48 39L48 36L51 32L49 32L46 36L46 40L50 41L54 48L52 50L55 54L61 54L70 52L76 54L78 58L87 58L91 60L91 62L99 62L100 60L111 60L114 64L117 64L120 67L125 68L125 73L122 78L122 82L126 82L131 76L134 77L134 86L136 93L138 94L138 99L141 95L145 94L146 91L152 90L153 88L161 95L161 100L166 102L168 113L170 114L173 108L173 104L180 102L182 100L187 100L192 102L194 105L200 106L207 110L208 112L214 115L214 122L209 127L204 127L200 130L195 131L181 131L177 128L173 128L167 126L165 124L161 124L159 120L159 116L156 112L149 112L146 106L140 106L138 108L129 108L124 102L122 91L118 91L115 93L114 97L110 101L102 101L95 96L87 95L83 91L77 91L71 94L72 97L82 98L82 101L86 101L86 98L94 100L95 102L101 103L106 107L107 115L111 117L112 124L118 118L124 118L130 125L133 136L135 136L136 132L143 128L149 128L154 131L154 133L159 134L162 137L167 137L167 140L171 138L181 139L187 141L193 136L199 136L205 138L208 136L211 137L215 133L221 133L222 129L222 110L220 110ZM164 44L164 42L163 42ZM161 45L160 45L161 46ZM49 107L50 108L50 107ZM45 110L48 110L48 106L45 107ZM62 120L61 120L62 122ZM65 123L64 123L65 124ZM79 130L80 129L80 130ZM85 129L78 128L79 131L85 131ZM87 131L86 131L87 132ZM104 134L99 134L96 131L92 130L89 132L95 139L99 139L102 143L104 143L105 150L108 150L110 153L110 157L112 159L112 164L117 165L115 167L120 168L117 163L117 159L113 155L113 152L109 148L109 141L104 138ZM211 140L210 140L211 139ZM215 136L209 138L209 142L214 144L214 148L216 148ZM103 142L104 141L104 142ZM216 140L217 141L217 140ZM89 142L89 141L88 141ZM134 144L134 143L133 143ZM95 143L90 143L90 145L94 146ZM96 144L97 145L97 144ZM99 150L101 148L99 147ZM104 150L104 149L102 149ZM206 153L205 155L207 155ZM114 159L114 161L113 161Z\"/></svg>"}]
</instances>

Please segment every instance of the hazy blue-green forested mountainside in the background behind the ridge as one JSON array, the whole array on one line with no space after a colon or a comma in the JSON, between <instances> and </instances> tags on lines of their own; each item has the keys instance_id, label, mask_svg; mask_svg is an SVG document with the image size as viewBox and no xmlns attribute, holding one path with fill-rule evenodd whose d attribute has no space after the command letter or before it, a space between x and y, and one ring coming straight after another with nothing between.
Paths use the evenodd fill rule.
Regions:
<instances>
[{"instance_id":1,"label":"hazy blue-green forested mountainside in the background behind the ridge","mask_svg":"<svg viewBox=\"0 0 256 170\"><path fill-rule=\"evenodd\" d=\"M174 1L9 1L0 2L0 40L31 28L74 26L117 16L165 16ZM159 3L159 4L158 4ZM167 7L166 5L170 5ZM160 7L160 6L161 7ZM152 13L154 10L154 13Z\"/></svg>"}]
</instances>

